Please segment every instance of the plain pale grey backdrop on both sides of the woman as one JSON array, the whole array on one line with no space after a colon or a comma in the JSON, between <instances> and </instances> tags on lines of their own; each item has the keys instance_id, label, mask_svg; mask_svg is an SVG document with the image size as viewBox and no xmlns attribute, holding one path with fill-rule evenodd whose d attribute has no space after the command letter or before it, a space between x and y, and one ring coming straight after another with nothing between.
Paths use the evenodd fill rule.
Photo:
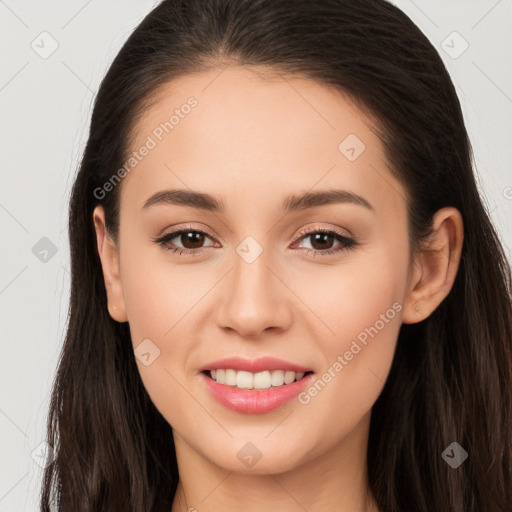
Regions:
<instances>
[{"instance_id":1,"label":"plain pale grey backdrop on both sides of the woman","mask_svg":"<svg viewBox=\"0 0 512 512\"><path fill-rule=\"evenodd\" d=\"M41 443L69 300L69 191L99 82L156 3L0 0L0 512L38 510L42 465L51 461ZM480 188L510 258L512 3L395 3L450 71Z\"/></svg>"}]
</instances>

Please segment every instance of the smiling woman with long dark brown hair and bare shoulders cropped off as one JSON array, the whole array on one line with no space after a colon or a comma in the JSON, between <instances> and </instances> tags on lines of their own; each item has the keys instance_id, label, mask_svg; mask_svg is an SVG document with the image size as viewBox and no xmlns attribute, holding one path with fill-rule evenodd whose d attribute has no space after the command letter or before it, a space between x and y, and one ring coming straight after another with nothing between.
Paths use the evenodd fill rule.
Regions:
<instances>
[{"instance_id":1,"label":"smiling woman with long dark brown hair and bare shoulders cropped off","mask_svg":"<svg viewBox=\"0 0 512 512\"><path fill-rule=\"evenodd\" d=\"M164 0L69 225L42 510L512 510L510 267L393 5Z\"/></svg>"}]
</instances>

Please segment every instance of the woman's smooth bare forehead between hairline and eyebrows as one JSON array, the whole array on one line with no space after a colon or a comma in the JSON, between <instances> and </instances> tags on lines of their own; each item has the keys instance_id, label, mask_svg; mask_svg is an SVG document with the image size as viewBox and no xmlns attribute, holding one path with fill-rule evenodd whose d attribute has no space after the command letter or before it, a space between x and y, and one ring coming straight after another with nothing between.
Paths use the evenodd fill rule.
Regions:
<instances>
[{"instance_id":1,"label":"woman's smooth bare forehead between hairline and eyebrows","mask_svg":"<svg viewBox=\"0 0 512 512\"><path fill-rule=\"evenodd\" d=\"M165 84L133 141L137 153L150 147L123 182L124 201L139 208L166 186L219 196L250 191L257 201L283 188L340 185L382 196L394 179L383 177L387 162L372 121L345 95L261 68L228 66ZM393 188L400 192L399 183Z\"/></svg>"}]
</instances>

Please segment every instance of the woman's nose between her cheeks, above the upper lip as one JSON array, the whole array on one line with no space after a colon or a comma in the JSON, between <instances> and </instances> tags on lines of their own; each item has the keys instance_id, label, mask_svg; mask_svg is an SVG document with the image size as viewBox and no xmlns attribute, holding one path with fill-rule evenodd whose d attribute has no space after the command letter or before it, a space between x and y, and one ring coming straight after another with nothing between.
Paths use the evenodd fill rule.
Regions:
<instances>
[{"instance_id":1,"label":"woman's nose between her cheeks, above the upper lip","mask_svg":"<svg viewBox=\"0 0 512 512\"><path fill-rule=\"evenodd\" d=\"M285 331L292 321L291 292L267 251L248 263L237 253L219 290L217 325L243 337Z\"/></svg>"}]
</instances>

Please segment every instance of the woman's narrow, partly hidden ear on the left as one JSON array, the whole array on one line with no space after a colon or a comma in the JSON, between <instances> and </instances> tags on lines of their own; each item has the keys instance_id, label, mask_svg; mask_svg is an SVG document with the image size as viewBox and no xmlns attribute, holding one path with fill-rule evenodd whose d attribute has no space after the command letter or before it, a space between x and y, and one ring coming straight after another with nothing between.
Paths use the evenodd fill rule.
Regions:
<instances>
[{"instance_id":1,"label":"woman's narrow, partly hidden ear on the left","mask_svg":"<svg viewBox=\"0 0 512 512\"><path fill-rule=\"evenodd\" d=\"M93 212L94 228L98 254L103 269L103 279L107 290L108 312L117 322L126 322L126 307L123 287L119 275L119 254L115 243L110 237L105 225L105 212L102 206L96 206Z\"/></svg>"}]
</instances>

